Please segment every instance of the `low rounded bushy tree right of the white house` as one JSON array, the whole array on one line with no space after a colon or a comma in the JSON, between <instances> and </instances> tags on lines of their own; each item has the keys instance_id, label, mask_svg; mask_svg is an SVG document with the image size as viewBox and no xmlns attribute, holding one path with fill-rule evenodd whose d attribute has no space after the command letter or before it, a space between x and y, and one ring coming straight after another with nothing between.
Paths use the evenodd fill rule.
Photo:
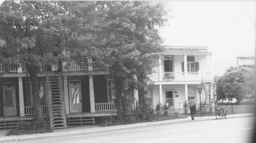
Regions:
<instances>
[{"instance_id":1,"label":"low rounded bushy tree right of the white house","mask_svg":"<svg viewBox=\"0 0 256 143\"><path fill-rule=\"evenodd\" d=\"M254 70L246 67L230 67L217 79L217 100L236 99L237 104L246 96L253 94Z\"/></svg>"}]
</instances>

